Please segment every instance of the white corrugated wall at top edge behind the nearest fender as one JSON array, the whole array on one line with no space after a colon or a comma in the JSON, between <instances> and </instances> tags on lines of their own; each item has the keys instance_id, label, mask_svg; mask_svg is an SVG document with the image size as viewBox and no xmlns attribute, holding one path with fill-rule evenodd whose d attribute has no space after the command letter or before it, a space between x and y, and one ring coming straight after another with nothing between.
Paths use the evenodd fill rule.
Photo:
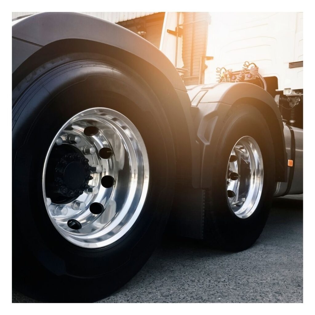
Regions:
<instances>
[{"instance_id":1,"label":"white corrugated wall at top edge behind the nearest fender","mask_svg":"<svg viewBox=\"0 0 315 315\"><path fill-rule=\"evenodd\" d=\"M39 12L12 12L12 19L22 15L35 14ZM111 21L113 23L132 20L142 16L150 15L157 12L80 12L89 14L100 19Z\"/></svg>"}]
</instances>

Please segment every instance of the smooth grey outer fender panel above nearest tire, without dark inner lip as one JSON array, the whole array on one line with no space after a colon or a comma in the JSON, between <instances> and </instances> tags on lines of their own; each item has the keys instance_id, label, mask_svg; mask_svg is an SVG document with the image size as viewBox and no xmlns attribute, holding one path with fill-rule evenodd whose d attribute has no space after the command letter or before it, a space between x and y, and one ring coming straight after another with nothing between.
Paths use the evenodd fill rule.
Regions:
<instances>
[{"instance_id":1,"label":"smooth grey outer fender panel above nearest tire, without dark inner lip","mask_svg":"<svg viewBox=\"0 0 315 315\"><path fill-rule=\"evenodd\" d=\"M63 39L83 39L117 47L140 57L163 72L175 89L186 91L175 67L154 45L122 26L91 15L75 12L33 14L14 23L12 37L14 41L35 46L14 51L13 71L43 46Z\"/></svg>"}]
</instances>

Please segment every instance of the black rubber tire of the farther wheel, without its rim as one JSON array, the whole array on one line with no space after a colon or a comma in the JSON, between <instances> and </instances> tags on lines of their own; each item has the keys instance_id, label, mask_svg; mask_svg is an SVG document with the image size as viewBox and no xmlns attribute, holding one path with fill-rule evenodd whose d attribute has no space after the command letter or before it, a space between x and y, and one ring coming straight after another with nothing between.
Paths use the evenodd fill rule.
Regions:
<instances>
[{"instance_id":1,"label":"black rubber tire of the farther wheel, without its rim","mask_svg":"<svg viewBox=\"0 0 315 315\"><path fill-rule=\"evenodd\" d=\"M255 211L239 218L229 207L226 196L226 170L235 143L250 136L258 143L263 160L264 179ZM265 117L253 106L233 106L228 113L215 152L212 188L205 196L205 239L218 249L241 251L260 236L271 207L275 185L275 157L272 137Z\"/></svg>"}]
</instances>

